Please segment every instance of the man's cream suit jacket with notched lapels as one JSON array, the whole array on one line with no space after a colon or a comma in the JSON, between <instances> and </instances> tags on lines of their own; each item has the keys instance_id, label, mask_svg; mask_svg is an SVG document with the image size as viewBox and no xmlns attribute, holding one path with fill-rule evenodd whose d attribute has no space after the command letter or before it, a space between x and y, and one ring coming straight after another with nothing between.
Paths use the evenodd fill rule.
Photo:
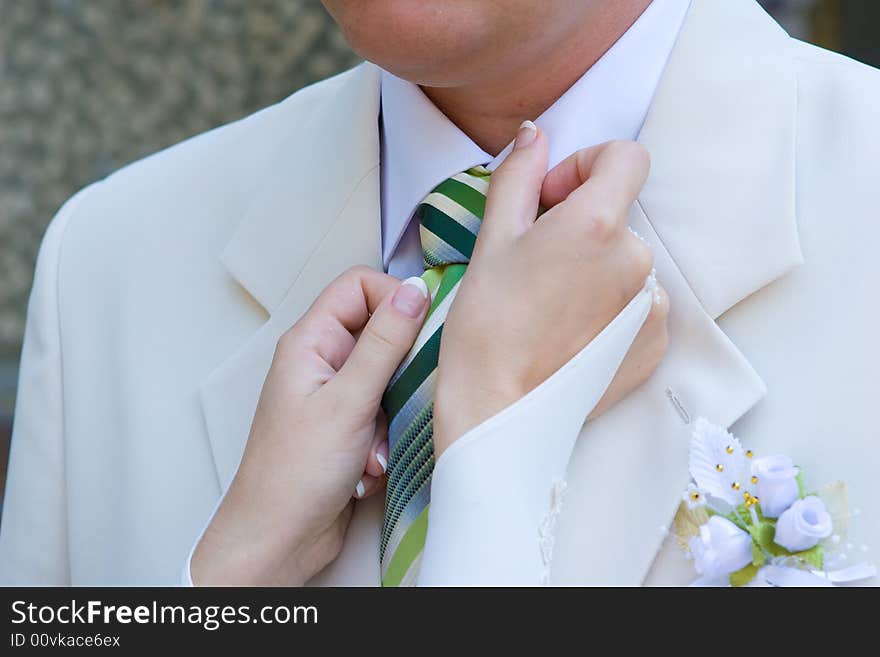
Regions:
<instances>
[{"instance_id":1,"label":"man's cream suit jacket with notched lapels","mask_svg":"<svg viewBox=\"0 0 880 657\"><path fill-rule=\"evenodd\" d=\"M175 584L241 456L275 342L379 268L379 72L365 64L82 191L39 256L0 576ZM558 584L686 584L667 542L693 416L845 480L880 561L880 73L752 0L694 0L640 136L631 224L672 301L651 380L583 429ZM540 449L540 445L536 446ZM319 584L379 582L381 499Z\"/></svg>"}]
</instances>

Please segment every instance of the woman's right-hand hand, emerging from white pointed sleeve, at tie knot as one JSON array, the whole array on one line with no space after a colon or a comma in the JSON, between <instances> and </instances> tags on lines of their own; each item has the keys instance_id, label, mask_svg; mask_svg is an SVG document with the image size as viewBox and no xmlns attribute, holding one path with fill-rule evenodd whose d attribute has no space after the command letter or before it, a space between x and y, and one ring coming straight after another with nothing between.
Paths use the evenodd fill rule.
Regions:
<instances>
[{"instance_id":1,"label":"woman's right-hand hand, emerging from white pointed sleeve, at tie knot","mask_svg":"<svg viewBox=\"0 0 880 657\"><path fill-rule=\"evenodd\" d=\"M520 129L492 175L474 254L443 328L438 457L558 370L642 289L653 256L627 230L627 213L648 170L640 145L610 142L545 175L546 136ZM550 209L536 220L539 202ZM669 305L663 290L658 300L594 415L660 363Z\"/></svg>"}]
</instances>

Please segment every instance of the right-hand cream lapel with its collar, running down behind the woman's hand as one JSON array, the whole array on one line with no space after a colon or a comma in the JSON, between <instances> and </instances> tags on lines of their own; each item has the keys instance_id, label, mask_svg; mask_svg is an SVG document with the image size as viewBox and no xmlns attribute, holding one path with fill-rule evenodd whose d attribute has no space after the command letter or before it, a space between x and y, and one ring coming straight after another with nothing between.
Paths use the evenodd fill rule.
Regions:
<instances>
[{"instance_id":1,"label":"right-hand cream lapel with its collar, running down behind the woman's hand","mask_svg":"<svg viewBox=\"0 0 880 657\"><path fill-rule=\"evenodd\" d=\"M556 582L643 581L688 479L689 433L669 391L724 426L766 394L714 320L802 262L787 44L751 0L691 5L640 136L652 171L630 217L670 295L669 350L648 383L583 430Z\"/></svg>"}]
</instances>

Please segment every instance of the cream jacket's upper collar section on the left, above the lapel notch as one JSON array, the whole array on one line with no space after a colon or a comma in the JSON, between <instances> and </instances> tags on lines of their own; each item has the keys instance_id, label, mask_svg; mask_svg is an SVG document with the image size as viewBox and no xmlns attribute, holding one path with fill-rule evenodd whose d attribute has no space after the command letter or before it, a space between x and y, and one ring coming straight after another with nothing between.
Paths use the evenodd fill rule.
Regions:
<instances>
[{"instance_id":1,"label":"cream jacket's upper collar section on the left, above the lapel notch","mask_svg":"<svg viewBox=\"0 0 880 657\"><path fill-rule=\"evenodd\" d=\"M269 313L345 215L352 192L379 166L379 73L362 64L323 83L328 93L310 113L294 113L296 95L285 101L293 105L289 133L221 255ZM373 228L378 234L378 222Z\"/></svg>"}]
</instances>

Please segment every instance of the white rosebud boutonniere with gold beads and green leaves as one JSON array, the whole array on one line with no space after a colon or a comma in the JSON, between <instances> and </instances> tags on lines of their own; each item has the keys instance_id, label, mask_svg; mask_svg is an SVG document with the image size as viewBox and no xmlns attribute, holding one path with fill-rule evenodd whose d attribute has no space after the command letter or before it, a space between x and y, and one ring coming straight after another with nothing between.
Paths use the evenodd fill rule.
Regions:
<instances>
[{"instance_id":1,"label":"white rosebud boutonniere with gold beads and green leaves","mask_svg":"<svg viewBox=\"0 0 880 657\"><path fill-rule=\"evenodd\" d=\"M812 491L788 456L758 456L702 418L688 467L673 533L700 575L695 585L832 586L876 575L847 538L858 514L842 482Z\"/></svg>"}]
</instances>

